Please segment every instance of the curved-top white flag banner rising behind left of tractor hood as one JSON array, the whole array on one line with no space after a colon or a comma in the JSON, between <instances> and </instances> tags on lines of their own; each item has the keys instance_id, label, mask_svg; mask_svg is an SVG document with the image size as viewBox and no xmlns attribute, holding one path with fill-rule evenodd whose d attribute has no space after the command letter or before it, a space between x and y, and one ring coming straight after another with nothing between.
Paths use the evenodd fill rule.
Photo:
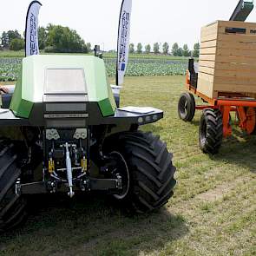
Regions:
<instances>
[{"instance_id":1,"label":"curved-top white flag banner rising behind left of tractor hood","mask_svg":"<svg viewBox=\"0 0 256 256\"><path fill-rule=\"evenodd\" d=\"M38 1L30 3L26 19L26 56L33 56L39 54L38 45L38 14L42 4Z\"/></svg>"}]
</instances>

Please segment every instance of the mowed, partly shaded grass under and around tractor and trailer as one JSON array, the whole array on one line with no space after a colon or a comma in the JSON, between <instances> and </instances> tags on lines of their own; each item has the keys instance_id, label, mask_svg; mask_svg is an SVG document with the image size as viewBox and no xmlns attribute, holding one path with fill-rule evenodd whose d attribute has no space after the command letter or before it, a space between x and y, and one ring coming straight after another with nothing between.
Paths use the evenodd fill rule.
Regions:
<instances>
[{"instance_id":1,"label":"mowed, partly shaded grass under and around tractor and trailer","mask_svg":"<svg viewBox=\"0 0 256 256\"><path fill-rule=\"evenodd\" d=\"M174 153L174 197L159 212L124 213L102 195L32 200L28 221L2 235L0 255L256 255L256 137L234 130L220 154L198 147L200 112L179 120L184 76L127 77L122 105L154 106L165 118L143 128Z\"/></svg>"}]
</instances>

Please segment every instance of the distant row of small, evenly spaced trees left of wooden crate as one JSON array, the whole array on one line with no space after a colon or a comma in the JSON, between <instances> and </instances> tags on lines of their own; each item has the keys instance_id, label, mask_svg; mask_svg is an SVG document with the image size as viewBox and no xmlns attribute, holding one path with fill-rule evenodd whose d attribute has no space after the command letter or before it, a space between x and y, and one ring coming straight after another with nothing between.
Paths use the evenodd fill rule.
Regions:
<instances>
[{"instance_id":1,"label":"distant row of small, evenly spaced trees left of wooden crate","mask_svg":"<svg viewBox=\"0 0 256 256\"><path fill-rule=\"evenodd\" d=\"M138 43L136 45L135 49L135 44L130 43L129 45L129 53L137 53L137 54L150 54L154 53L155 55L158 54L164 54L164 55L173 55L173 56L194 56L194 57L199 57L200 54L200 43L194 43L194 49L190 50L187 46L187 44L184 44L183 47L181 48L178 43L174 43L172 46L172 49L170 49L170 46L168 43L163 43L161 47L161 43L154 43L153 49L151 48L150 44L146 44L143 46L141 43Z\"/></svg>"}]
</instances>

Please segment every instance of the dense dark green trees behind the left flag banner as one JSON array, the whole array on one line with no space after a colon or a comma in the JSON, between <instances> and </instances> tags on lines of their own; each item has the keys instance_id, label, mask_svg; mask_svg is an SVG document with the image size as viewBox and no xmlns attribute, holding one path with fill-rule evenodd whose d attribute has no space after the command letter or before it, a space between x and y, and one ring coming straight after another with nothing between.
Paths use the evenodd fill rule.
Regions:
<instances>
[{"instance_id":1,"label":"dense dark green trees behind the left flag banner","mask_svg":"<svg viewBox=\"0 0 256 256\"><path fill-rule=\"evenodd\" d=\"M24 49L23 36L17 30L3 31L0 49ZM69 27L49 24L38 28L39 49L45 52L88 53L91 44L85 43L75 30Z\"/></svg>"}]
</instances>

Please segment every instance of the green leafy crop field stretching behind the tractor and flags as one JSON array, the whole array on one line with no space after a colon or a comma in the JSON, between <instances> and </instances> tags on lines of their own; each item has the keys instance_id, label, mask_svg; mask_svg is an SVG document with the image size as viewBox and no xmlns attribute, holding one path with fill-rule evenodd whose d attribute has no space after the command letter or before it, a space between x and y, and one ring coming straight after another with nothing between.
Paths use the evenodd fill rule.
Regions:
<instances>
[{"instance_id":1,"label":"green leafy crop field stretching behind the tractor and flags","mask_svg":"<svg viewBox=\"0 0 256 256\"><path fill-rule=\"evenodd\" d=\"M23 51L0 51L0 82L16 81L23 59ZM104 56L108 76L115 76L116 56ZM131 55L128 76L185 75L187 58L174 56Z\"/></svg>"}]
</instances>

